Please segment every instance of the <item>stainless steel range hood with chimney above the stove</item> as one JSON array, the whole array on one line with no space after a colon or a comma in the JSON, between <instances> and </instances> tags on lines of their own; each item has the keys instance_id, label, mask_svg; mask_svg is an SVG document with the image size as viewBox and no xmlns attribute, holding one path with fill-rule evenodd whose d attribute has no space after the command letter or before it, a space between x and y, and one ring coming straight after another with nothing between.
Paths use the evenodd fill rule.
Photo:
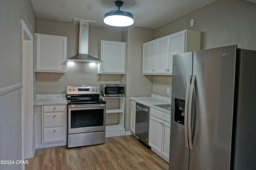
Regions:
<instances>
[{"instance_id":1,"label":"stainless steel range hood with chimney above the stove","mask_svg":"<svg viewBox=\"0 0 256 170\"><path fill-rule=\"evenodd\" d=\"M74 18L74 22L75 20L79 19ZM68 58L68 62L102 62L98 58L88 54L88 38L89 22L86 20L79 20L79 52L75 56Z\"/></svg>"}]
</instances>

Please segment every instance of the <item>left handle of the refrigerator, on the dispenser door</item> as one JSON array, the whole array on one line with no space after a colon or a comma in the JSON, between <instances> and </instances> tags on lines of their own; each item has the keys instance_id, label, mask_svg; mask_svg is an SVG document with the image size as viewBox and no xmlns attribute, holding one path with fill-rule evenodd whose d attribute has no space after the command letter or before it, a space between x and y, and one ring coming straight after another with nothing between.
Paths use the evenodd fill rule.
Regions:
<instances>
[{"instance_id":1,"label":"left handle of the refrigerator, on the dispenser door","mask_svg":"<svg viewBox=\"0 0 256 170\"><path fill-rule=\"evenodd\" d=\"M185 143L186 147L188 148L188 95L189 95L189 88L190 88L190 82L191 82L192 75L190 74L188 76L188 84L186 89L186 98L185 98L185 110L184 110L184 132L185 132Z\"/></svg>"}]
</instances>

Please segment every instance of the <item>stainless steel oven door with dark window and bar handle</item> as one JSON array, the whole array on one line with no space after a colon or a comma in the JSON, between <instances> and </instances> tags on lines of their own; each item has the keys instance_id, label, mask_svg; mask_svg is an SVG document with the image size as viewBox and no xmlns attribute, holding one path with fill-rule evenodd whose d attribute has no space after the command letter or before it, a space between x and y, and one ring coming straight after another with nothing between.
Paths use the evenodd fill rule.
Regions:
<instances>
[{"instance_id":1,"label":"stainless steel oven door with dark window and bar handle","mask_svg":"<svg viewBox=\"0 0 256 170\"><path fill-rule=\"evenodd\" d=\"M106 129L106 104L68 105L68 134Z\"/></svg>"}]
</instances>

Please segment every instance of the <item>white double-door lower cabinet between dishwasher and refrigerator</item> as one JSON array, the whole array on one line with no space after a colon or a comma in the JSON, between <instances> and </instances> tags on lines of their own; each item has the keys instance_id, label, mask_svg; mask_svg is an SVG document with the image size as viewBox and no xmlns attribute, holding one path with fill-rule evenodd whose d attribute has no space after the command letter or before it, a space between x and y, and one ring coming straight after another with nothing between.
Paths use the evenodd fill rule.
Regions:
<instances>
[{"instance_id":1,"label":"white double-door lower cabinet between dishwasher and refrigerator","mask_svg":"<svg viewBox=\"0 0 256 170\"><path fill-rule=\"evenodd\" d=\"M150 108L149 146L164 160L169 162L171 115Z\"/></svg>"}]
</instances>

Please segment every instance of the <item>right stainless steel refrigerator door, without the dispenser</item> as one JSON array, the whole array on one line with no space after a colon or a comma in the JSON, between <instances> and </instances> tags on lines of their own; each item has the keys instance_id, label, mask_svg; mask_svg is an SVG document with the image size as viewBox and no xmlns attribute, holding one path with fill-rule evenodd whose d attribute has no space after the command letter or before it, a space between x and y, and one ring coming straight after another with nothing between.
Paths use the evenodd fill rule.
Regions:
<instances>
[{"instance_id":1,"label":"right stainless steel refrigerator door, without the dispenser","mask_svg":"<svg viewBox=\"0 0 256 170\"><path fill-rule=\"evenodd\" d=\"M194 52L189 170L229 170L236 45Z\"/></svg>"}]
</instances>

